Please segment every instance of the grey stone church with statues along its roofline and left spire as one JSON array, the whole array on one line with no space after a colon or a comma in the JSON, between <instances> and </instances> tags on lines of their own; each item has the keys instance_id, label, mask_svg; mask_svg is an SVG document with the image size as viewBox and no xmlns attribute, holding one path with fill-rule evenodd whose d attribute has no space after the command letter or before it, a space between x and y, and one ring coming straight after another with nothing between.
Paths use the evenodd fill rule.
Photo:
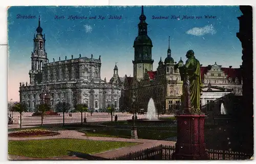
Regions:
<instances>
[{"instance_id":1,"label":"grey stone church with statues along its roofline and left spire","mask_svg":"<svg viewBox=\"0 0 256 164\"><path fill-rule=\"evenodd\" d=\"M41 103L40 94L45 88L50 91L51 107L54 110L58 102L71 104L71 110L78 103L86 103L90 110L106 109L113 104L119 110L119 99L123 88L123 81L118 76L115 65L114 74L110 82L101 80L101 59L90 57L59 59L49 62L46 52L46 38L42 35L40 18L37 34L34 35L34 50L31 53L30 82L19 83L20 102L27 104L30 111Z\"/></svg>"}]
</instances>

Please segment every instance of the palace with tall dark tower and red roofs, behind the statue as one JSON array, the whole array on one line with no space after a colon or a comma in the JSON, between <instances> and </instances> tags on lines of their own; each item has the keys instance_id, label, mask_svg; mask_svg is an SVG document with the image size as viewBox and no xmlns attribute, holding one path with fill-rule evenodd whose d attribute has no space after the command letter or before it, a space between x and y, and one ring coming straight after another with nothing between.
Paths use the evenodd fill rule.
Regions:
<instances>
[{"instance_id":1,"label":"palace with tall dark tower and red roofs, behind the statue","mask_svg":"<svg viewBox=\"0 0 256 164\"><path fill-rule=\"evenodd\" d=\"M136 97L137 109L146 110L147 103L152 98L157 110L171 112L174 105L181 105L183 84L179 69L175 70L174 66L175 64L183 65L184 62L181 58L178 62L174 61L169 46L166 58L164 61L160 58L157 70L154 71L154 60L152 59L153 43L147 35L147 23L143 6L139 20L138 36L133 44L135 52L134 60L132 61L134 77L127 77L125 75L122 97L123 109L129 110L132 107L131 98L134 95ZM240 68L232 68L232 66L225 68L217 63L208 66L201 65L203 83L201 106L209 106L211 102L224 97L228 93L241 96L241 69L242 66ZM220 108L220 104L218 108Z\"/></svg>"}]
</instances>

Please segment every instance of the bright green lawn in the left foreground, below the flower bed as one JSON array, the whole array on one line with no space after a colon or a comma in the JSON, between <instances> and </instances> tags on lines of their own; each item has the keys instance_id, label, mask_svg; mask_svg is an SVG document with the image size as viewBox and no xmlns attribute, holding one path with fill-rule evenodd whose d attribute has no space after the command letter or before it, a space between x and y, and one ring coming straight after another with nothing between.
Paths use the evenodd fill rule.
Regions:
<instances>
[{"instance_id":1,"label":"bright green lawn in the left foreground, below the flower bed","mask_svg":"<svg viewBox=\"0 0 256 164\"><path fill-rule=\"evenodd\" d=\"M46 158L68 155L68 151L95 154L137 144L85 139L11 140L8 142L8 154Z\"/></svg>"}]
</instances>

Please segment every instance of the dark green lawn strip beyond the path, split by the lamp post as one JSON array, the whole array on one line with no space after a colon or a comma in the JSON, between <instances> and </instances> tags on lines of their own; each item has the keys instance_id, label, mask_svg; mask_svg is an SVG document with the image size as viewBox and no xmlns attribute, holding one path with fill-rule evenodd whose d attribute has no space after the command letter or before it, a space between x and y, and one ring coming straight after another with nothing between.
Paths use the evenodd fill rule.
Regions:
<instances>
[{"instance_id":1,"label":"dark green lawn strip beyond the path, split by the lamp post","mask_svg":"<svg viewBox=\"0 0 256 164\"><path fill-rule=\"evenodd\" d=\"M121 129L96 129L93 130L79 130L86 136L97 136L97 137L119 137L119 138L131 138L131 130ZM140 139L156 139L162 140L168 137L177 136L176 132L168 130L150 130L150 129L139 129L137 128L137 134Z\"/></svg>"}]
</instances>

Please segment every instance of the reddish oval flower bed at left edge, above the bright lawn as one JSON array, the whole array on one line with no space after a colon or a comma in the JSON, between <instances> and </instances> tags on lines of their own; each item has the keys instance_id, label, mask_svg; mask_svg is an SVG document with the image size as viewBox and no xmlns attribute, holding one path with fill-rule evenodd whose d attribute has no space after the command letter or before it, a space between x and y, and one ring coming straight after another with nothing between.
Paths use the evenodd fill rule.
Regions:
<instances>
[{"instance_id":1,"label":"reddish oval flower bed at left edge, above the bright lawn","mask_svg":"<svg viewBox=\"0 0 256 164\"><path fill-rule=\"evenodd\" d=\"M35 137L35 136L49 136L49 135L58 135L58 132L49 131L46 129L26 129L15 131L8 134L9 137Z\"/></svg>"}]
</instances>

